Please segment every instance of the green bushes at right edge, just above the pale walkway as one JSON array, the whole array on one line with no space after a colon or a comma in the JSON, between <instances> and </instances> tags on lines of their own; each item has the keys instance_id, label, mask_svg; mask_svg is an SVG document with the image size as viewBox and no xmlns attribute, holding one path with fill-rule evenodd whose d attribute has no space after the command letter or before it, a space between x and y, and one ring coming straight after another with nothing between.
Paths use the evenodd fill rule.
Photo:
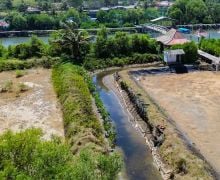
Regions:
<instances>
[{"instance_id":1,"label":"green bushes at right edge, just above the pale walkway","mask_svg":"<svg viewBox=\"0 0 220 180\"><path fill-rule=\"evenodd\" d=\"M199 43L201 50L212 54L214 56L220 56L220 40L219 39L202 39Z\"/></svg>"}]
</instances>

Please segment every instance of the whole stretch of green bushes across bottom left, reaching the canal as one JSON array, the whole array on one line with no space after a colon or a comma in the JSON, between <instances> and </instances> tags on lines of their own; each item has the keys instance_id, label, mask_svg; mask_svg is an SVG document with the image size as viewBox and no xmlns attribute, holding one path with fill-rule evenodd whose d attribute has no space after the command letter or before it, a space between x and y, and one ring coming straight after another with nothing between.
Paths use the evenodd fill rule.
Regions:
<instances>
[{"instance_id":1,"label":"whole stretch of green bushes across bottom left, reaching the canal","mask_svg":"<svg viewBox=\"0 0 220 180\"><path fill-rule=\"evenodd\" d=\"M42 140L39 129L0 136L0 179L116 179L121 168L117 154L85 149L73 156L59 139Z\"/></svg>"}]
</instances>

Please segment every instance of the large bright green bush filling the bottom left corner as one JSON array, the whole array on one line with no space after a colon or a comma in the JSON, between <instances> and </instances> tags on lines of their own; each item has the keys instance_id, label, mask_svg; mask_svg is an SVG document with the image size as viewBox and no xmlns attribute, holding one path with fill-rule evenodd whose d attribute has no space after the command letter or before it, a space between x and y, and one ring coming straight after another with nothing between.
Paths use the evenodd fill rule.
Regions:
<instances>
[{"instance_id":1,"label":"large bright green bush filling the bottom left corner","mask_svg":"<svg viewBox=\"0 0 220 180\"><path fill-rule=\"evenodd\" d=\"M73 157L69 147L41 138L39 129L1 135L0 179L73 178Z\"/></svg>"}]
</instances>

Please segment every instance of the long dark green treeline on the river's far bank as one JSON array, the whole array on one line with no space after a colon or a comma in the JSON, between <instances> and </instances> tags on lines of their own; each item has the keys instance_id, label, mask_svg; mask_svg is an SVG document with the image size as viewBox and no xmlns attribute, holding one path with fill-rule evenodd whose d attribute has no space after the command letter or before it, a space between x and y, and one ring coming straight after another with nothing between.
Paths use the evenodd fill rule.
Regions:
<instances>
[{"instance_id":1,"label":"long dark green treeline on the river's far bank","mask_svg":"<svg viewBox=\"0 0 220 180\"><path fill-rule=\"evenodd\" d=\"M97 20L93 21L85 12L70 8L63 12L49 12L41 14L28 14L11 12L3 18L10 24L9 30L50 30L61 29L62 24L74 22L78 28L127 27L149 22L152 17L159 15L155 8L130 10L100 10Z\"/></svg>"}]
</instances>

